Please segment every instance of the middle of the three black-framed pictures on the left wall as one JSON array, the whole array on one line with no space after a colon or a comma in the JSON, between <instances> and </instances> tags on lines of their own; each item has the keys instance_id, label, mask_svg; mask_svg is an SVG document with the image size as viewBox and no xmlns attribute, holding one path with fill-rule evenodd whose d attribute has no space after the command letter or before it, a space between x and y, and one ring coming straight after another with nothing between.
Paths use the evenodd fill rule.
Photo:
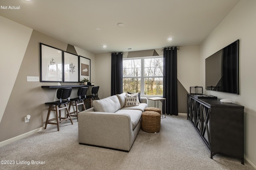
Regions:
<instances>
[{"instance_id":1,"label":"middle of the three black-framed pictures on the left wall","mask_svg":"<svg viewBox=\"0 0 256 170\"><path fill-rule=\"evenodd\" d=\"M64 82L78 82L79 67L78 67L78 55L74 55L68 52L64 55Z\"/></svg>"}]
</instances>

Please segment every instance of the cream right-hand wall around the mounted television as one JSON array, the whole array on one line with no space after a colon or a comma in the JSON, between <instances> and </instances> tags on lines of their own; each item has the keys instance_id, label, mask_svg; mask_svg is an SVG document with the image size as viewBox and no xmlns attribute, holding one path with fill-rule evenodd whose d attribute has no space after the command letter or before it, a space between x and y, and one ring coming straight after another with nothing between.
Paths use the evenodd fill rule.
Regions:
<instances>
[{"instance_id":1,"label":"cream right-hand wall around the mounted television","mask_svg":"<svg viewBox=\"0 0 256 170\"><path fill-rule=\"evenodd\" d=\"M240 94L213 92L206 94L228 98L244 106L244 154L256 168L256 1L241 0L210 33L200 47L201 84L205 87L205 59L226 45L240 39Z\"/></svg>"}]
</instances>

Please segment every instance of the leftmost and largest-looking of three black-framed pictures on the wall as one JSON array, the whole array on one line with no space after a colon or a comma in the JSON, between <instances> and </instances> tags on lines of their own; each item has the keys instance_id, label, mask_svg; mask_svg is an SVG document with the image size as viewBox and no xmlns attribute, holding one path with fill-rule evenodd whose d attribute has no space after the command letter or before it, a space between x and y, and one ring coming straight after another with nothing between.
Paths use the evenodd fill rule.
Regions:
<instances>
[{"instance_id":1,"label":"leftmost and largest-looking of three black-framed pictures on the wall","mask_svg":"<svg viewBox=\"0 0 256 170\"><path fill-rule=\"evenodd\" d=\"M40 82L63 82L63 51L40 43Z\"/></svg>"}]
</instances>

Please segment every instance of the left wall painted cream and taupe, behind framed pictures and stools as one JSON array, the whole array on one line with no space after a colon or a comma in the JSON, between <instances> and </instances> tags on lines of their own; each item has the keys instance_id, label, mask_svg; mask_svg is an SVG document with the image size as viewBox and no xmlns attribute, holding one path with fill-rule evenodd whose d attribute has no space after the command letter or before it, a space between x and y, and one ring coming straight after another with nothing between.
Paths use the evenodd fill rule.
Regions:
<instances>
[{"instance_id":1,"label":"left wall painted cream and taupe, behind framed pictures and stools","mask_svg":"<svg viewBox=\"0 0 256 170\"><path fill-rule=\"evenodd\" d=\"M56 89L42 89L41 86L58 85L58 83L27 82L27 76L40 77L40 42L87 57L91 59L92 68L94 68L94 54L1 16L0 23L5 26L0 28L0 41L4 45L0 52L3 61L1 66L3 95L0 102L1 142L44 126L48 109L44 103L56 100ZM91 71L92 77L95 77L94 69ZM76 96L75 91L72 96ZM31 115L31 120L29 123L24 123L24 116L28 114Z\"/></svg>"}]
</instances>

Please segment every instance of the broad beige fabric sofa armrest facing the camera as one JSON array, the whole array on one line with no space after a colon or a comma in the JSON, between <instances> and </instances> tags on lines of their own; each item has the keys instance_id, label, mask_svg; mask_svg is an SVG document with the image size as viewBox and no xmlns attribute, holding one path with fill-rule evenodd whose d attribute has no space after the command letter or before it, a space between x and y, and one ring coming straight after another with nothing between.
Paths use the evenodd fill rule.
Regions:
<instances>
[{"instance_id":1,"label":"broad beige fabric sofa armrest facing the camera","mask_svg":"<svg viewBox=\"0 0 256 170\"><path fill-rule=\"evenodd\" d=\"M135 139L130 115L90 110L78 113L79 143L129 151Z\"/></svg>"}]
</instances>

